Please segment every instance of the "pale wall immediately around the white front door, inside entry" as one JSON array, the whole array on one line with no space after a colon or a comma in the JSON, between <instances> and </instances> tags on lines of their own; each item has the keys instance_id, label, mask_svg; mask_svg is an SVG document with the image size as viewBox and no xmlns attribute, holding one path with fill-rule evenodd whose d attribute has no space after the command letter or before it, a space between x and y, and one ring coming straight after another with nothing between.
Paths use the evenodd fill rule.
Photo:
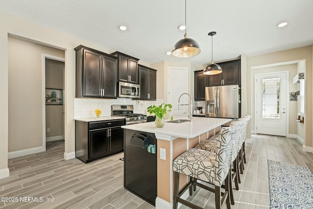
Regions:
<instances>
[{"instance_id":1,"label":"pale wall immediately around the white front door, inside entry","mask_svg":"<svg viewBox=\"0 0 313 209\"><path fill-rule=\"evenodd\" d=\"M254 86L254 77L255 74L258 73L269 73L269 72L279 72L279 71L288 71L289 72L289 81L287 81L287 85L289 85L289 93L290 92L296 92L297 91L297 85L292 83L292 78L296 75L297 73L297 65L296 64L291 64L291 65L283 65L283 66L275 66L275 67L267 67L267 68L261 68L261 69L254 69L251 70L251 113L255 112L254 109L254 95L255 92L255 86ZM253 78L253 79L252 79ZM287 95L287 102L289 102L289 133L288 134L297 134L297 122L295 119L297 118L297 101L289 101L289 93ZM251 130L254 130L255 127L255 117L253 116L253 119L251 119Z\"/></svg>"}]
</instances>

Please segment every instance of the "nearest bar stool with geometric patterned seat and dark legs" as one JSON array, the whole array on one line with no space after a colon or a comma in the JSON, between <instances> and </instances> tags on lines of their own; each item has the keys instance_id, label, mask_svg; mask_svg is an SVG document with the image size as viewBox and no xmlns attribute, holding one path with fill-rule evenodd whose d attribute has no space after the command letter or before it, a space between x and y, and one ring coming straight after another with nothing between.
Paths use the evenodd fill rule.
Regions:
<instances>
[{"instance_id":1,"label":"nearest bar stool with geometric patterned seat and dark legs","mask_svg":"<svg viewBox=\"0 0 313 209\"><path fill-rule=\"evenodd\" d=\"M201 209L199 206L180 198L188 188L189 194L192 195L192 186L194 185L215 193L216 209L220 209L224 202L226 202L227 209L230 209L229 168L230 152L233 145L231 136L234 130L232 127L222 127L216 152L192 148L174 160L174 209L177 209L178 203L193 209ZM189 176L189 183L180 192L179 173ZM214 185L214 188L198 183L197 180ZM221 193L223 182L225 191Z\"/></svg>"}]
</instances>

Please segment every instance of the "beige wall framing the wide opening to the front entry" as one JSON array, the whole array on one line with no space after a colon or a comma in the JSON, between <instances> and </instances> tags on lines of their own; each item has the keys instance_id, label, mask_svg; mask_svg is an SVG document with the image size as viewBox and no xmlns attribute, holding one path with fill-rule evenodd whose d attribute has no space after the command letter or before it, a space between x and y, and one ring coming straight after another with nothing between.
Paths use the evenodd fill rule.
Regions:
<instances>
[{"instance_id":1,"label":"beige wall framing the wide opening to the front entry","mask_svg":"<svg viewBox=\"0 0 313 209\"><path fill-rule=\"evenodd\" d=\"M258 56L246 58L246 82L242 82L242 89L246 88L246 93L242 97L246 97L247 114L252 115L254 120L253 103L251 100L251 91L254 91L254 81L251 80L251 69L256 66L273 65L276 63L296 62L306 60L305 80L306 80L306 107L305 107L305 146L312 146L312 46L293 48L290 50L278 51ZM251 123L248 124L247 138L251 137Z\"/></svg>"}]
</instances>

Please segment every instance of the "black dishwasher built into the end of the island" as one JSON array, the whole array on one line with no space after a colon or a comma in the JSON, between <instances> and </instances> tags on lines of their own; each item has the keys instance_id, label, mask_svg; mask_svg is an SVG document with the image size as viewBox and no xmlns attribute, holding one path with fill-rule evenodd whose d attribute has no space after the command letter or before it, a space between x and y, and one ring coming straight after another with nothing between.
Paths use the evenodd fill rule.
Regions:
<instances>
[{"instance_id":1,"label":"black dishwasher built into the end of the island","mask_svg":"<svg viewBox=\"0 0 313 209\"><path fill-rule=\"evenodd\" d=\"M125 129L124 187L156 205L156 136Z\"/></svg>"}]
</instances>

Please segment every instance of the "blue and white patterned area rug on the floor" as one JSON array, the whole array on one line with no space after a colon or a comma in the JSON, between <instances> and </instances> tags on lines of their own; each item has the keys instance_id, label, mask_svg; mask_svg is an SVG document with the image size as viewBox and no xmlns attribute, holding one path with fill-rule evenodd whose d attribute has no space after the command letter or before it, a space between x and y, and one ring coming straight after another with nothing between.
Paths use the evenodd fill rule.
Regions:
<instances>
[{"instance_id":1,"label":"blue and white patterned area rug on the floor","mask_svg":"<svg viewBox=\"0 0 313 209\"><path fill-rule=\"evenodd\" d=\"M268 160L270 209L313 209L313 173L308 167Z\"/></svg>"}]
</instances>

